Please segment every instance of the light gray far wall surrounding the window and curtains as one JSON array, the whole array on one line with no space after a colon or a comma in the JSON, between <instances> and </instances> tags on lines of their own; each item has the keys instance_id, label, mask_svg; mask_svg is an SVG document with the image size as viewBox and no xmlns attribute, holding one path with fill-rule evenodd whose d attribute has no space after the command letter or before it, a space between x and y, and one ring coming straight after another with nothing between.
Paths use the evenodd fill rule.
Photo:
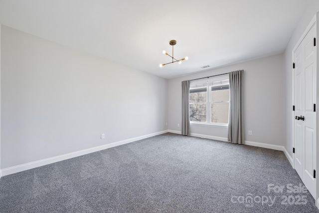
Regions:
<instances>
[{"instance_id":1,"label":"light gray far wall surrounding the window and curtains","mask_svg":"<svg viewBox=\"0 0 319 213\"><path fill-rule=\"evenodd\" d=\"M245 140L284 145L283 54L186 75L168 81L168 129L181 131L181 81L244 70ZM248 135L252 131L252 136ZM227 138L227 128L193 126L190 132Z\"/></svg>"}]
</instances>

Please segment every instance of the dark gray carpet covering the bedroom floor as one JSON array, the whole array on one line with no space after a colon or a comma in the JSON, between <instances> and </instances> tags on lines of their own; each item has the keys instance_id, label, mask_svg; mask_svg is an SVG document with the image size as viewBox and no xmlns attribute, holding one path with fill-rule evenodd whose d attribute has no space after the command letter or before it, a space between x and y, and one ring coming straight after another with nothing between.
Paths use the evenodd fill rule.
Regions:
<instances>
[{"instance_id":1,"label":"dark gray carpet covering the bedroom floor","mask_svg":"<svg viewBox=\"0 0 319 213\"><path fill-rule=\"evenodd\" d=\"M167 133L4 176L0 212L319 213L303 186L281 151Z\"/></svg>"}]
</instances>

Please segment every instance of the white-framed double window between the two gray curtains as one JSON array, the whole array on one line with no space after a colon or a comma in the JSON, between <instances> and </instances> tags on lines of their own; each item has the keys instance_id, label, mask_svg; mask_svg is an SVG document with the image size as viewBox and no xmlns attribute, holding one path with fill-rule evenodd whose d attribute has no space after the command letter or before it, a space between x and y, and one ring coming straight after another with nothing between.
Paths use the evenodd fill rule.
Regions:
<instances>
[{"instance_id":1,"label":"white-framed double window between the two gray curtains","mask_svg":"<svg viewBox=\"0 0 319 213\"><path fill-rule=\"evenodd\" d=\"M192 81L189 89L190 123L226 126L229 116L228 75Z\"/></svg>"}]
</instances>

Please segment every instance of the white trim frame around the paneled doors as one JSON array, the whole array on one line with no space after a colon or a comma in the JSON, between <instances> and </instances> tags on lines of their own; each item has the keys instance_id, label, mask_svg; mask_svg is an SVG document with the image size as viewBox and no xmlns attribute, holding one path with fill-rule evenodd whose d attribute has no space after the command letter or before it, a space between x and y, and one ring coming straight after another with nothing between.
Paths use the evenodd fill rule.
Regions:
<instances>
[{"instance_id":1,"label":"white trim frame around the paneled doors","mask_svg":"<svg viewBox=\"0 0 319 213\"><path fill-rule=\"evenodd\" d=\"M297 50L297 48L299 47L299 45L301 44L301 42L304 40L304 38L306 37L306 35L308 34L308 32L310 31L310 29L316 25L316 31L317 31L317 64L316 64L316 71L317 71L317 97L316 97L316 106L317 106L317 110L316 110L316 135L317 135L317 138L316 138L316 142L317 142L317 152L316 152L316 160L317 162L319 162L319 109L318 109L318 101L319 101L319 48L318 48L318 45L319 45L319 38L318 38L318 35L319 35L319 12L317 12L315 14L315 16L313 17L313 19L310 21L310 23L308 24L307 28L305 29L304 33L300 36L298 42L296 43L295 47L293 48L292 50L292 62L294 62L295 60L295 51ZM294 75L294 68L292 66L292 95L293 95L293 105L295 105L295 75ZM292 113L293 114L293 113ZM293 148L295 147L295 118L294 116L291 116L291 119L292 119L292 141L293 141ZM292 156L292 166L293 168L295 169L295 153L293 153L293 156ZM319 168L319 165L317 163L317 168L316 168L316 172L317 172L317 175L316 175L316 196L317 198L315 198L315 202L316 202L316 206L317 208L319 209L319 175L318 175L318 168Z\"/></svg>"}]
</instances>

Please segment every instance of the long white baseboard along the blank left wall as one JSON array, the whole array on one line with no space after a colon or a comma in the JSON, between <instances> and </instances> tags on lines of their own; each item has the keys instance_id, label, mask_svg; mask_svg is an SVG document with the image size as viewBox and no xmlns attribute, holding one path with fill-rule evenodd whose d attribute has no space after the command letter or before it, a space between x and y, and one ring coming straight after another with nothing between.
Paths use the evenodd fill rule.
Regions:
<instances>
[{"instance_id":1,"label":"long white baseboard along the blank left wall","mask_svg":"<svg viewBox=\"0 0 319 213\"><path fill-rule=\"evenodd\" d=\"M89 148L89 149L80 150L80 151L77 151L77 152L72 152L72 153L68 153L68 154L64 154L64 155L59 155L59 156L55 156L55 157L52 157L52 158L46 158L46 159L33 161L33 162L30 162L30 163L26 163L26 164L21 164L21 165L17 165L17 166L13 166L13 167L4 168L4 169L0 170L0 177L1 177L1 175L2 176L6 176L6 175L10 175L10 174L17 173L17 172L22 172L22 171L33 169L33 168L36 168L36 167L40 167L40 166L56 163L56 162L59 162L59 161L70 159L70 158L75 158L75 157L78 157L78 156L82 156L82 155L86 155L86 154L89 154L89 153L101 151L101 150L104 150L104 149L109 149L109 148L120 146L120 145L123 145L123 144L128 144L128 143L131 143L131 142L134 142L134 141L139 141L139 140L142 140L142 139L145 139L145 138L150 138L150 137L153 137L153 136L161 135L161 134L164 134L164 133L167 133L167 132L168 132L168 130L164 130L164 131L160 131L160 132L156 132L156 133L152 133L152 134L148 134L148 135L139 136L139 137L136 137L136 138L131 138L131 139L123 140L123 141L118 141L118 142L114 142L114 143L110 143L110 144L105 144L105 145L102 145L102 146L92 147L92 148Z\"/></svg>"}]
</instances>

